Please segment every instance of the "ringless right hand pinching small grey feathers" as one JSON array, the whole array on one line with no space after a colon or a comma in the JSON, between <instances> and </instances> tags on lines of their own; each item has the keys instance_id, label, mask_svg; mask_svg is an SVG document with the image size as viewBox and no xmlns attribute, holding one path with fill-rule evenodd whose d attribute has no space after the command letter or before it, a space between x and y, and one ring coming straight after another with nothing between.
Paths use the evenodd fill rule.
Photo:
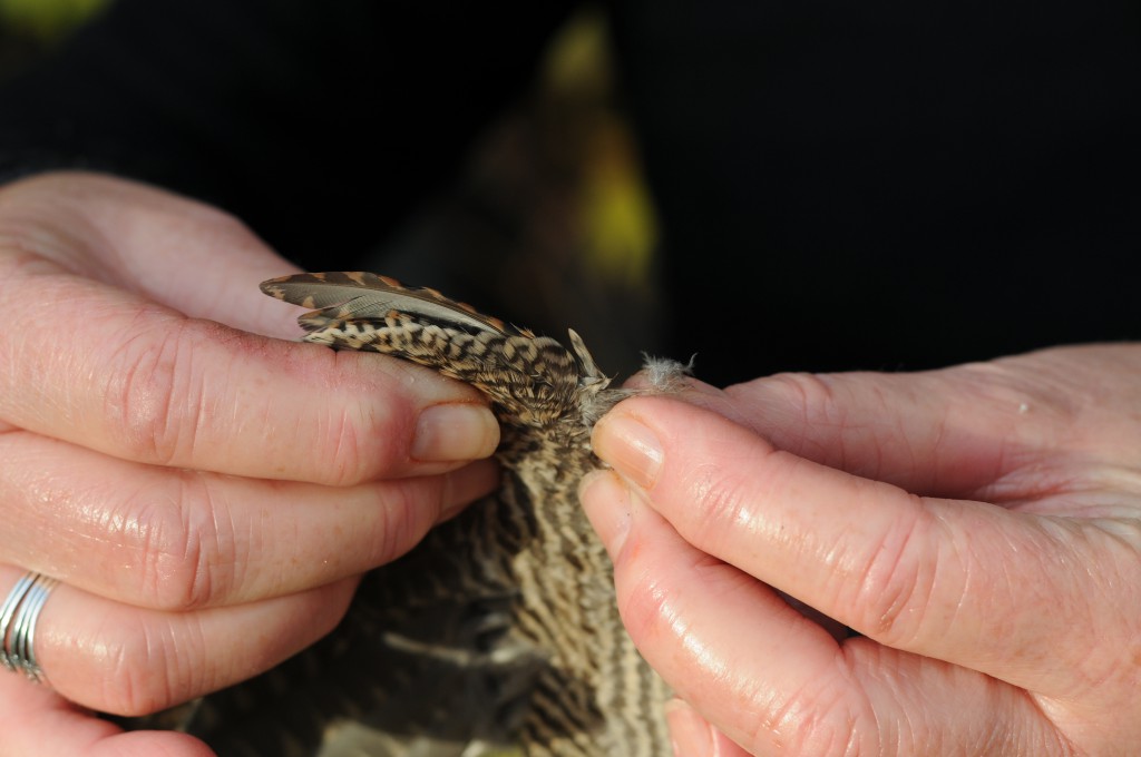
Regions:
<instances>
[{"instance_id":1,"label":"ringless right hand pinching small grey feathers","mask_svg":"<svg viewBox=\"0 0 1141 757\"><path fill-rule=\"evenodd\" d=\"M618 405L583 504L678 754L1134 754L1139 376L1089 347Z\"/></svg>"}]
</instances>

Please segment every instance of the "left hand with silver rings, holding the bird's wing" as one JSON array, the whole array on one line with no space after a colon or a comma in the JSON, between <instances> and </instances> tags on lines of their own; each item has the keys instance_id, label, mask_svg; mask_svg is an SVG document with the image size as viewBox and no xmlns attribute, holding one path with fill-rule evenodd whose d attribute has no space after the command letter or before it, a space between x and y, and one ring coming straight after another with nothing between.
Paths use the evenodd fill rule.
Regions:
<instances>
[{"instance_id":1,"label":"left hand with silver rings, holding the bird's wing","mask_svg":"<svg viewBox=\"0 0 1141 757\"><path fill-rule=\"evenodd\" d=\"M154 188L0 189L0 603L25 571L60 580L35 636L50 686L0 670L0 755L208 754L86 708L145 714L272 667L495 487L464 465L499 434L470 388L245 333L298 334L258 291L290 270Z\"/></svg>"}]
</instances>

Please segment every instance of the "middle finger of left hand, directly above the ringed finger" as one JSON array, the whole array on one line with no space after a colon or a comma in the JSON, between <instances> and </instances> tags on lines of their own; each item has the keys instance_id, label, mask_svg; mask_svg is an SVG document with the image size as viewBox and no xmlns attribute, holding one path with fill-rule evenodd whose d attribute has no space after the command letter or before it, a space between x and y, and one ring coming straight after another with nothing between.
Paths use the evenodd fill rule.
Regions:
<instances>
[{"instance_id":1,"label":"middle finger of left hand, directly above the ringed finger","mask_svg":"<svg viewBox=\"0 0 1141 757\"><path fill-rule=\"evenodd\" d=\"M121 461L0 434L0 559L122 602L185 610L292 594L390 562L497 486L491 462L353 487ZM124 569L126 568L126 569Z\"/></svg>"}]
</instances>

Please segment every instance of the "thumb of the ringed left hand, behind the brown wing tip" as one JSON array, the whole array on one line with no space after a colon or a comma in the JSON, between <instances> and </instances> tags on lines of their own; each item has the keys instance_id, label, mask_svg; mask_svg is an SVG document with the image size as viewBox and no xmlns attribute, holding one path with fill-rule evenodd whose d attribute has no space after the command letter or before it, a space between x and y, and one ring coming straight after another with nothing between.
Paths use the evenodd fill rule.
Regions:
<instances>
[{"instance_id":1,"label":"thumb of the ringed left hand, behind the brown wing tip","mask_svg":"<svg viewBox=\"0 0 1141 757\"><path fill-rule=\"evenodd\" d=\"M63 269L123 285L195 318L282 339L299 333L296 314L258 284L299 269L241 221L157 187L79 171L9 185L6 230ZM34 226L34 234L32 229Z\"/></svg>"}]
</instances>

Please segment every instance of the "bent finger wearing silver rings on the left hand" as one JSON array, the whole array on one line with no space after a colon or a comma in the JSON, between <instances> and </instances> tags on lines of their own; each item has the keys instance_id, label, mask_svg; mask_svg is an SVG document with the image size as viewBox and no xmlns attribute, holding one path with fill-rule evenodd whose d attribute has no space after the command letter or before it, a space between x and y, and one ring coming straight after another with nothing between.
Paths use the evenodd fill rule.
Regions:
<instances>
[{"instance_id":1,"label":"bent finger wearing silver rings on the left hand","mask_svg":"<svg viewBox=\"0 0 1141 757\"><path fill-rule=\"evenodd\" d=\"M21 571L0 567L0 586ZM262 673L327 634L355 578L290 596L194 612L143 610L56 586L40 613L35 657L66 699L144 715Z\"/></svg>"}]
</instances>

